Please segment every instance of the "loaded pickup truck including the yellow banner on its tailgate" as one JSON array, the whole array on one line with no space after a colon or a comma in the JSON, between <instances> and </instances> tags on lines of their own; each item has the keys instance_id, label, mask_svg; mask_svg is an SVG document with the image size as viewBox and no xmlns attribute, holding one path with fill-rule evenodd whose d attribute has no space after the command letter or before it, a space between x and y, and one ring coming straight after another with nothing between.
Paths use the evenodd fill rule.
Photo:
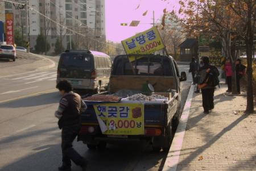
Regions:
<instances>
[{"instance_id":1,"label":"loaded pickup truck including the yellow banner on its tailgate","mask_svg":"<svg viewBox=\"0 0 256 171\"><path fill-rule=\"evenodd\" d=\"M81 114L82 127L77 139L89 149L104 149L106 143L113 141L136 140L151 142L155 151L170 148L181 115L180 82L186 81L187 76L185 72L179 73L171 56L137 55L138 60L131 62L129 57L134 56L115 57L108 92L98 96L105 99L93 95L84 100L88 109ZM164 95L166 100L143 101L140 98L133 101L129 98L134 93L148 94L147 85L153 94ZM108 94L122 99L108 101L105 96ZM140 105L143 107L138 107ZM134 121L140 117L143 117L141 121ZM104 124L106 130L102 132ZM137 132L139 130L142 132Z\"/></svg>"}]
</instances>

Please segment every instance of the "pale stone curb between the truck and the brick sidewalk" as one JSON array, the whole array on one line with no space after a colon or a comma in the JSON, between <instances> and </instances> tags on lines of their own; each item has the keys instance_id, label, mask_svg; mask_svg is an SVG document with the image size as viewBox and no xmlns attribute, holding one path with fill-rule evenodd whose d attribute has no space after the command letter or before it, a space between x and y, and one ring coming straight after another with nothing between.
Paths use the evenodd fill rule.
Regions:
<instances>
[{"instance_id":1,"label":"pale stone curb between the truck and the brick sidewalk","mask_svg":"<svg viewBox=\"0 0 256 171\"><path fill-rule=\"evenodd\" d=\"M171 148L166 157L166 161L164 162L163 171L176 171L177 165L179 163L180 151L183 144L183 139L185 136L185 129L187 127L189 111L191 108L191 102L193 98L195 85L191 85L187 97L187 101L184 106L184 110L180 117L180 122L177 127L174 139L172 140Z\"/></svg>"}]
</instances>

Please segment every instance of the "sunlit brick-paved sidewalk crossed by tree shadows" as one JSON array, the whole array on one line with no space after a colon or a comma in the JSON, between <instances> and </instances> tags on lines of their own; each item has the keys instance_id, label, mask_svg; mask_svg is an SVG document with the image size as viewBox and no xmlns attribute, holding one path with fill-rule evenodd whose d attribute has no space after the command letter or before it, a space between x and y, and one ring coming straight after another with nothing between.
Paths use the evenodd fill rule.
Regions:
<instances>
[{"instance_id":1,"label":"sunlit brick-paved sidewalk crossed by tree shadows","mask_svg":"<svg viewBox=\"0 0 256 171\"><path fill-rule=\"evenodd\" d=\"M256 170L256 115L243 114L246 97L227 96L220 86L210 114L201 93L193 94L176 170Z\"/></svg>"}]
</instances>

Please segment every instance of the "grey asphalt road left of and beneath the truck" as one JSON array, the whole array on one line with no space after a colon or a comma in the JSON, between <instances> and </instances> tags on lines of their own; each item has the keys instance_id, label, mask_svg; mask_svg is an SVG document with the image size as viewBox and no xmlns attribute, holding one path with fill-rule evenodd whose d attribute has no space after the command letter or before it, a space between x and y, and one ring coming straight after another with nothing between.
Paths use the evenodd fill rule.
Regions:
<instances>
[{"instance_id":1,"label":"grey asphalt road left of and beneath the truck","mask_svg":"<svg viewBox=\"0 0 256 171\"><path fill-rule=\"evenodd\" d=\"M188 65L179 65L188 71ZM184 107L191 75L183 82ZM0 170L45 171L61 165L60 130L53 116L60 95L56 69L0 78ZM117 143L104 152L90 151L81 142L75 149L88 159L88 170L159 170L166 152L152 152L146 142ZM81 170L72 165L72 170Z\"/></svg>"}]
</instances>

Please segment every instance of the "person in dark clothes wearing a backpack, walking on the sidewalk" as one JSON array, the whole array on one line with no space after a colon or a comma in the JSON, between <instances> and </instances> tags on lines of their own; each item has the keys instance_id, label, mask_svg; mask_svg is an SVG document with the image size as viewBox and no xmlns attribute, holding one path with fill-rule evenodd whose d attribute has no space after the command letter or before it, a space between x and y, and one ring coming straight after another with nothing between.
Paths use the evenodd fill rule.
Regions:
<instances>
[{"instance_id":1,"label":"person in dark clothes wearing a backpack, walking on the sidewalk","mask_svg":"<svg viewBox=\"0 0 256 171\"><path fill-rule=\"evenodd\" d=\"M209 57L203 57L204 66L199 69L200 83L199 89L202 91L204 113L209 114L209 111L214 109L213 96L215 86L213 83L214 78L220 75L216 66L209 64ZM211 76L211 77L210 77ZM212 77L213 76L213 77Z\"/></svg>"}]
</instances>

